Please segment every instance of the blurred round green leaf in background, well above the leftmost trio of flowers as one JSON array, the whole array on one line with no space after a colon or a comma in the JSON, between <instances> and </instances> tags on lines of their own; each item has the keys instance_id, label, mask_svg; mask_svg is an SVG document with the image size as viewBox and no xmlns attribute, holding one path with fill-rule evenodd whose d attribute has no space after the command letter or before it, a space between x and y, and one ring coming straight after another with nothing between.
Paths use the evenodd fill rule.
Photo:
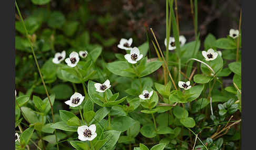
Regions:
<instances>
[{"instance_id":1,"label":"blurred round green leaf in background, well above the leftmost trio of flowers","mask_svg":"<svg viewBox=\"0 0 256 150\"><path fill-rule=\"evenodd\" d=\"M61 12L54 11L48 18L47 24L51 28L61 28L64 25L65 21L65 16Z\"/></svg>"}]
</instances>

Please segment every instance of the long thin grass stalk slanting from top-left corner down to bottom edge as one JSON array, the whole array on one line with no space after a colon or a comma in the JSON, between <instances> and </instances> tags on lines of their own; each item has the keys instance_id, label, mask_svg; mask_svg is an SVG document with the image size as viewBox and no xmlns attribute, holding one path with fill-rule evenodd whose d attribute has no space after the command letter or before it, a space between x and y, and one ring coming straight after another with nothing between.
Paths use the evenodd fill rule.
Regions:
<instances>
[{"instance_id":1,"label":"long thin grass stalk slanting from top-left corner down to bottom edge","mask_svg":"<svg viewBox=\"0 0 256 150\"><path fill-rule=\"evenodd\" d=\"M48 91L47 91L47 88L46 88L46 85L45 85L45 82L44 82L44 79L43 79L43 76L42 76L42 73L41 73L41 69L40 69L40 67L39 67L39 65L38 65L38 62L37 62L37 59L36 59L36 55L35 55L34 49L33 49L31 40L30 40L30 38L29 38L29 34L28 34L28 32L27 32L27 29L26 29L24 20L23 20L23 18L22 18L21 12L19 11L19 8L18 8L18 5L17 5L17 2L16 2L16 1L15 1L15 6L16 6L16 8L17 8L17 10L18 10L18 15L19 15L19 17L20 17L21 20L22 20L22 24L23 24L23 27L24 27L24 29L25 29L26 37L27 37L27 39L28 39L28 41L29 41L29 46L31 47L31 50L32 50L32 53L33 53L33 56L34 56L34 59L35 59L35 62L36 62L36 66L37 66L37 69L38 69L38 72L39 72L40 77L41 77L41 80L42 80L42 82L43 82L43 86L44 86L44 89L45 89L45 92L46 92L48 101L49 101L49 103L50 103L50 105L51 105L52 120L53 120L53 123L55 123L55 122L54 122L54 114L53 114L53 105L52 105L52 102L51 102L51 100L50 100L50 96L49 96L49 94L48 94ZM59 149L59 148L58 148L57 135L56 135L56 129L55 129L55 139L56 139L57 149Z\"/></svg>"}]
</instances>

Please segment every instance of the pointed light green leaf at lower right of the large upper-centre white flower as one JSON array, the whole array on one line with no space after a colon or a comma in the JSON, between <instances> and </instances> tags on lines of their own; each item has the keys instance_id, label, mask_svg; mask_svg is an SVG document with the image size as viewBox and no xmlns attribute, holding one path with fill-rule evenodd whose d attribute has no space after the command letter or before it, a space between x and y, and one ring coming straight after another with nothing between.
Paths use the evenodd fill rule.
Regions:
<instances>
[{"instance_id":1,"label":"pointed light green leaf at lower right of the large upper-centre white flower","mask_svg":"<svg viewBox=\"0 0 256 150\"><path fill-rule=\"evenodd\" d=\"M162 61L151 61L149 63L146 63L145 70L140 74L140 78L147 76L157 69L159 69L163 65Z\"/></svg>"}]
</instances>

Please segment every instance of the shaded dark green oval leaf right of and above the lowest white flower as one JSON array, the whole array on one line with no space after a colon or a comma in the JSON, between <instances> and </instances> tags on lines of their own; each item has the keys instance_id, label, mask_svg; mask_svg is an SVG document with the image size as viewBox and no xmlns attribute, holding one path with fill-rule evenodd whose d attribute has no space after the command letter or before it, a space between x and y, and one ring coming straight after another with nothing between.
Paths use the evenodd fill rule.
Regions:
<instances>
[{"instance_id":1,"label":"shaded dark green oval leaf right of and above the lowest white flower","mask_svg":"<svg viewBox=\"0 0 256 150\"><path fill-rule=\"evenodd\" d=\"M134 124L135 120L133 120L129 116L118 116L114 117L111 121L111 128L114 128L117 131L126 131L130 126Z\"/></svg>"}]
</instances>

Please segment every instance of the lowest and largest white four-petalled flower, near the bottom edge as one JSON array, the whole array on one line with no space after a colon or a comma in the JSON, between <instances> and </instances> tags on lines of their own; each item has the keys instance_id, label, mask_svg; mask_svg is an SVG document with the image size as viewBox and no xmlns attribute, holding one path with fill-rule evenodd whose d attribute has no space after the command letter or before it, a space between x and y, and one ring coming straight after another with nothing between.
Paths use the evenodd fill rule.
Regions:
<instances>
[{"instance_id":1,"label":"lowest and largest white four-petalled flower, near the bottom edge","mask_svg":"<svg viewBox=\"0 0 256 150\"><path fill-rule=\"evenodd\" d=\"M86 125L77 128L78 139L81 141L92 141L96 136L96 125L92 124L89 127Z\"/></svg>"}]
</instances>

